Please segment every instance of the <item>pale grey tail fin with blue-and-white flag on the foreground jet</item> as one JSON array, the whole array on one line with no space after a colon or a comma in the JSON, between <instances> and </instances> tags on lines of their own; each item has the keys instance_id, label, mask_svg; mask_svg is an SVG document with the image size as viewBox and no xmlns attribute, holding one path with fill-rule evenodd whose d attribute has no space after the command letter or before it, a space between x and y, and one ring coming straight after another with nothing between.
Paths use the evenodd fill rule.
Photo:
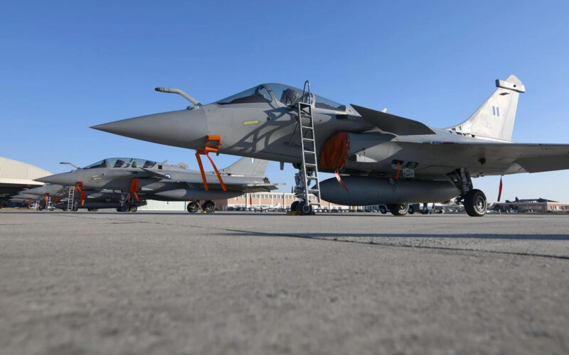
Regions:
<instances>
[{"instance_id":1,"label":"pale grey tail fin with blue-and-white flag on the foreground jet","mask_svg":"<svg viewBox=\"0 0 569 355\"><path fill-rule=\"evenodd\" d=\"M511 141L516 120L518 98L526 88L515 76L496 80L496 91L462 124L450 127L450 131L487 138Z\"/></svg>"}]
</instances>

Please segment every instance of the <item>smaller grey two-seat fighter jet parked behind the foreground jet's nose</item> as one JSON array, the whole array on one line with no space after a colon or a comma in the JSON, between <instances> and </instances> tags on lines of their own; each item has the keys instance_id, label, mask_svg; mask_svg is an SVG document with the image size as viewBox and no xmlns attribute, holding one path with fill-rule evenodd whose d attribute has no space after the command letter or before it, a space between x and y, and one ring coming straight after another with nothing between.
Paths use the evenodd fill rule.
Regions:
<instances>
[{"instance_id":1,"label":"smaller grey two-seat fighter jet parked behind the foreground jet's nose","mask_svg":"<svg viewBox=\"0 0 569 355\"><path fill-rule=\"evenodd\" d=\"M107 158L69 173L36 179L40 182L76 186L83 189L110 189L122 194L122 204L132 210L139 200L191 201L188 212L197 212L199 202L213 212L212 200L238 197L245 192L277 189L264 176L267 160L242 158L228 168L215 172L188 170L186 163L167 165L138 158ZM63 162L68 163L68 162ZM203 165L201 165L203 166ZM87 194L88 195L88 194Z\"/></svg>"}]
</instances>

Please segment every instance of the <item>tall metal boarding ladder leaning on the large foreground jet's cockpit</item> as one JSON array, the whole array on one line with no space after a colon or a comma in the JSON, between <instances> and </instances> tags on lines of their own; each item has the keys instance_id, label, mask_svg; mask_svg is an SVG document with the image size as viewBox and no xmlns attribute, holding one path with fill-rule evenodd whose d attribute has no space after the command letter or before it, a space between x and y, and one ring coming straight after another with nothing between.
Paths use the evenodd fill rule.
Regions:
<instances>
[{"instance_id":1,"label":"tall metal boarding ladder leaning on the large foreground jet's cockpit","mask_svg":"<svg viewBox=\"0 0 569 355\"><path fill-rule=\"evenodd\" d=\"M316 152L316 138L314 135L314 120L312 119L312 108L314 99L310 93L310 82L304 82L302 97L293 108L297 110L298 126L300 134L300 148L302 151L302 166L299 172L294 174L294 195L308 204L310 207L321 207L320 182L318 180L318 155ZM316 182L310 187L311 182ZM310 195L314 195L316 200L311 202Z\"/></svg>"}]
</instances>

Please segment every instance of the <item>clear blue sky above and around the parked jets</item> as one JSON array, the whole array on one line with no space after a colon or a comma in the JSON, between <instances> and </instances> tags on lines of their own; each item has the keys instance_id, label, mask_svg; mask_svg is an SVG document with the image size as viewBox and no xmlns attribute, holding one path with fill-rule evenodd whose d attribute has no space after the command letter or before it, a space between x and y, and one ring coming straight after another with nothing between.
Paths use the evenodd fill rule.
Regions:
<instances>
[{"instance_id":1,"label":"clear blue sky above and around the parked jets","mask_svg":"<svg viewBox=\"0 0 569 355\"><path fill-rule=\"evenodd\" d=\"M307 79L338 102L445 127L511 74L527 89L514 141L569 143L568 19L566 0L3 1L0 155L53 173L111 156L197 168L193 151L88 127L187 106L158 86L208 103ZM293 174L269 165L283 190ZM474 180L489 200L498 183ZM568 183L567 170L511 175L503 195L569 201Z\"/></svg>"}]
</instances>

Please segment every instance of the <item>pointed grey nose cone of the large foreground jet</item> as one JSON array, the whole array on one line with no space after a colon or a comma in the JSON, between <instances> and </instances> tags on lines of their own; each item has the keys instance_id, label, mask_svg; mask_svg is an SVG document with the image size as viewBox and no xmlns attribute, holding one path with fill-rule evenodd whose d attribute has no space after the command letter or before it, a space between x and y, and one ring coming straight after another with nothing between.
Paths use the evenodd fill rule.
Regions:
<instances>
[{"instance_id":1,"label":"pointed grey nose cone of the large foreground jet","mask_svg":"<svg viewBox=\"0 0 569 355\"><path fill-rule=\"evenodd\" d=\"M201 149L207 135L206 113L201 107L150 114L92 126L92 129L168 146Z\"/></svg>"}]
</instances>

